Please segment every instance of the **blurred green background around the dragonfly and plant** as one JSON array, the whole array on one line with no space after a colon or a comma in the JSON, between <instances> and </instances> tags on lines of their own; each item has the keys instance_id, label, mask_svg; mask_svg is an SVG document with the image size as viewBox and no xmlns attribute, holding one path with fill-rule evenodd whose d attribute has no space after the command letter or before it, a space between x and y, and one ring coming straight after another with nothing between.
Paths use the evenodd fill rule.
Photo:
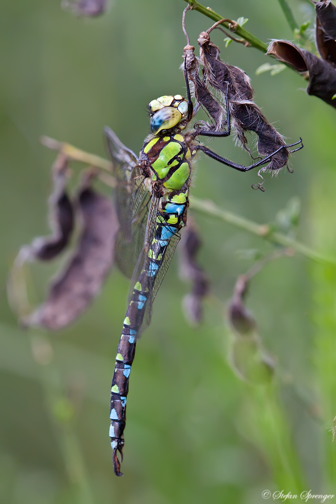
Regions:
<instances>
[{"instance_id":1,"label":"blurred green background around the dragonfly and plant","mask_svg":"<svg viewBox=\"0 0 336 504\"><path fill-rule=\"evenodd\" d=\"M313 8L290 0L296 19ZM58 0L2 1L0 228L0 501L4 504L258 504L261 492L336 493L331 443L336 415L336 273L299 254L268 264L253 279L247 304L263 346L277 362L273 385L251 386L233 372L225 322L237 275L252 262L237 250L270 244L190 211L211 280L205 322L190 328L174 258L137 347L127 401L122 472L113 474L109 391L128 281L113 270L102 294L76 324L58 334L25 332L6 299L8 270L20 246L47 234L46 200L55 153L44 134L105 156L102 128L139 152L149 133L145 107L164 94L185 94L182 0L113 0L97 19L79 19ZM225 18L248 18L263 41L293 40L277 0L213 0ZM196 45L212 22L187 13ZM255 75L266 61L253 48L212 36L222 58L249 74L255 101L290 141L305 148L294 173L242 174L199 156L192 194L259 223L274 221L294 196L302 202L298 239L336 257L335 110L304 92L295 72ZM238 162L234 139L211 141ZM79 173L74 165L74 172ZM77 176L77 175L76 175ZM32 268L40 302L57 265ZM67 401L68 398L68 401ZM70 398L70 402L69 402ZM71 407L75 408L73 415ZM271 497L271 500L272 497Z\"/></svg>"}]
</instances>

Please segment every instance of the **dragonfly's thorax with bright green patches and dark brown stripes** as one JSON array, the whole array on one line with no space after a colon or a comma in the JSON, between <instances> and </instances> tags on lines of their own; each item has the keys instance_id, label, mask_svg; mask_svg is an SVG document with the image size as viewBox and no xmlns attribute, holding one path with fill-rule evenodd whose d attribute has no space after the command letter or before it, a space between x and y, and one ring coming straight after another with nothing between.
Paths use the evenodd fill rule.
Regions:
<instances>
[{"instance_id":1,"label":"dragonfly's thorax with bright green patches and dark brown stripes","mask_svg":"<svg viewBox=\"0 0 336 504\"><path fill-rule=\"evenodd\" d=\"M176 191L188 180L191 171L190 150L182 135L155 136L145 142L140 159L147 161L152 180L161 180L164 187Z\"/></svg>"}]
</instances>

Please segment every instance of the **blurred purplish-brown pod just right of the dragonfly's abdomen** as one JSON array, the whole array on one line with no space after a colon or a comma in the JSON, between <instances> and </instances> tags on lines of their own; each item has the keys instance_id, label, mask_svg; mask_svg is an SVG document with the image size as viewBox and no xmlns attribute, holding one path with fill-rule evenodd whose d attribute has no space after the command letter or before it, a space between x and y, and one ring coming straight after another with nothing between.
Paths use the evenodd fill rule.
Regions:
<instances>
[{"instance_id":1,"label":"blurred purplish-brown pod just right of the dragonfly's abdomen","mask_svg":"<svg viewBox=\"0 0 336 504\"><path fill-rule=\"evenodd\" d=\"M196 226L188 218L188 224L183 230L179 245L180 277L191 280L191 292L184 296L183 308L187 320L192 325L198 325L203 320L203 298L209 292L209 280L196 262L197 251L201 245Z\"/></svg>"}]
</instances>

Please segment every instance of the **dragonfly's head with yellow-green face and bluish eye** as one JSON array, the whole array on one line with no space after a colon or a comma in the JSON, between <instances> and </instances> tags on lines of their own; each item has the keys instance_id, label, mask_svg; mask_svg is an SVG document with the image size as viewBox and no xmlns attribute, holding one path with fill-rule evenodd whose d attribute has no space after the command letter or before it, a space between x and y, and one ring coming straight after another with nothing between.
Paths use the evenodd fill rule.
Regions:
<instances>
[{"instance_id":1,"label":"dragonfly's head with yellow-green face and bluish eye","mask_svg":"<svg viewBox=\"0 0 336 504\"><path fill-rule=\"evenodd\" d=\"M188 102L181 95L160 96L150 102L149 108L153 135L171 130L177 125L182 130L187 125Z\"/></svg>"}]
</instances>

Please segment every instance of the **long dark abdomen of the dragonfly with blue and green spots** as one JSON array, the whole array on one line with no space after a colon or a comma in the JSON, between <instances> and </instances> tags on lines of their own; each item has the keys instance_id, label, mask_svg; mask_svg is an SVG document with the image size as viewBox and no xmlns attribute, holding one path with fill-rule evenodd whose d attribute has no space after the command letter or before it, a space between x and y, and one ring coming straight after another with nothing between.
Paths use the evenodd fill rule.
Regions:
<instances>
[{"instance_id":1,"label":"long dark abdomen of the dragonfly with blue and green spots","mask_svg":"<svg viewBox=\"0 0 336 504\"><path fill-rule=\"evenodd\" d=\"M148 304L149 307L151 306L156 290L170 262L170 257L165 257L170 242L179 240L178 231L184 225L186 219L187 195L188 190L185 192L172 191L160 198L159 209L156 211L155 220L153 219L153 235L147 245L145 244L146 258L133 288L123 322L112 378L109 432L113 449L113 467L117 476L122 476L117 452L122 457L123 431L126 421L126 396L130 369L135 356L137 336L144 322L146 307ZM166 267L164 267L165 261ZM159 279L158 275L161 275L162 278Z\"/></svg>"}]
</instances>

